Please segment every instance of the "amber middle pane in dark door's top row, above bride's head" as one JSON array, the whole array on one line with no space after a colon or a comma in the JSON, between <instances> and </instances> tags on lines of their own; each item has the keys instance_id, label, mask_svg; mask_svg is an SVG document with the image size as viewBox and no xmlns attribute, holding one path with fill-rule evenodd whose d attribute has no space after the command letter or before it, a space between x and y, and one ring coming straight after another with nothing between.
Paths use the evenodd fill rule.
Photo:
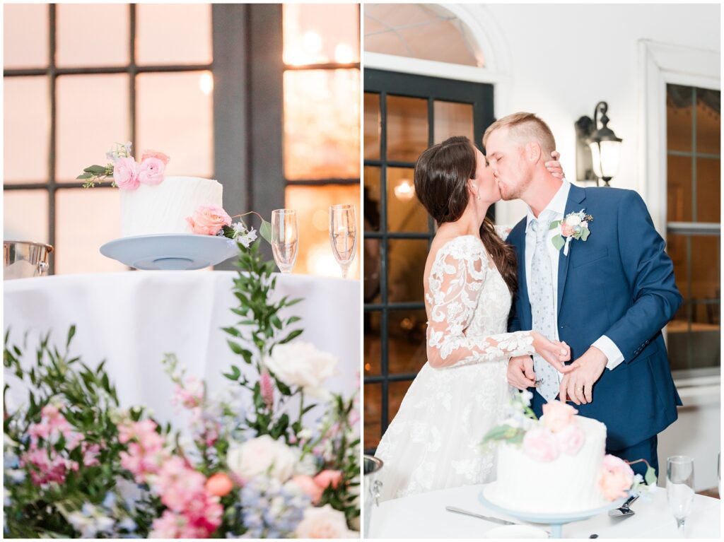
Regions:
<instances>
[{"instance_id":1,"label":"amber middle pane in dark door's top row, above bride's head","mask_svg":"<svg viewBox=\"0 0 724 542\"><path fill-rule=\"evenodd\" d=\"M387 96L387 159L414 162L427 148L427 101Z\"/></svg>"}]
</instances>

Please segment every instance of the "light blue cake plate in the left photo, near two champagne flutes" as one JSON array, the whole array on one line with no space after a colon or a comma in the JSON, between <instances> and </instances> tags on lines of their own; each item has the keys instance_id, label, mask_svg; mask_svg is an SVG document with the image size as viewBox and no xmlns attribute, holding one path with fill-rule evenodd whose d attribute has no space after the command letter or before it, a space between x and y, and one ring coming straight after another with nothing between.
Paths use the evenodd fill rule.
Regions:
<instances>
[{"instance_id":1,"label":"light blue cake plate in the left photo, near two champagne flutes","mask_svg":"<svg viewBox=\"0 0 724 542\"><path fill-rule=\"evenodd\" d=\"M215 266L239 253L227 237L159 234L121 237L101 247L101 254L127 266L146 270L190 271Z\"/></svg>"}]
</instances>

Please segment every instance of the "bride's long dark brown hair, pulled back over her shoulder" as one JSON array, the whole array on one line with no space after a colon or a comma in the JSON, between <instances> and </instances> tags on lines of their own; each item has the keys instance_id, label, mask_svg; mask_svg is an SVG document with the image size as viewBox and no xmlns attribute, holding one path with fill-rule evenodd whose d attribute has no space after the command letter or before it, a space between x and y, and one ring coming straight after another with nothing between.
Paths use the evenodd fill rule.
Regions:
<instances>
[{"instance_id":1,"label":"bride's long dark brown hair, pulled back over her shoulder","mask_svg":"<svg viewBox=\"0 0 724 542\"><path fill-rule=\"evenodd\" d=\"M455 222L468 206L468 179L475 178L473 144L467 137L450 137L432 145L415 164L415 193L437 225ZM480 238L500 271L510 293L518 289L515 249L503 242L490 219L480 226Z\"/></svg>"}]
</instances>

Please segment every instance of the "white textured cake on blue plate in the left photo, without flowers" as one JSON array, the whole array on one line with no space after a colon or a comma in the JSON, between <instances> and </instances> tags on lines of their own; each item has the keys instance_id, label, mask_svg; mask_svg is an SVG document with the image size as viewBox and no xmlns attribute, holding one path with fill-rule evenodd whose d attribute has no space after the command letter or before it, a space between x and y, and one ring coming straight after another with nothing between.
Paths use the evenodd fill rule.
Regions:
<instances>
[{"instance_id":1,"label":"white textured cake on blue plate in the left photo, without flowers","mask_svg":"<svg viewBox=\"0 0 724 542\"><path fill-rule=\"evenodd\" d=\"M121 237L190 234L187 216L202 205L222 206L222 185L199 177L166 177L159 185L121 190Z\"/></svg>"}]
</instances>

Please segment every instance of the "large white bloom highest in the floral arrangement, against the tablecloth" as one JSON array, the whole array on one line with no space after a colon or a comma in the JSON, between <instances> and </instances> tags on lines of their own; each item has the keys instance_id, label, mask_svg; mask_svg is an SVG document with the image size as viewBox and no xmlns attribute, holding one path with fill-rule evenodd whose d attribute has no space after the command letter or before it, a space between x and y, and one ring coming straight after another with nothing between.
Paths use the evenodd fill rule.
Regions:
<instances>
[{"instance_id":1,"label":"large white bloom highest in the floral arrangement, against the tablecloth","mask_svg":"<svg viewBox=\"0 0 724 542\"><path fill-rule=\"evenodd\" d=\"M287 386L300 386L311 397L327 401L331 394L322 384L337 373L338 361L332 354L316 350L311 343L295 342L277 344L272 355L264 359L264 365Z\"/></svg>"}]
</instances>

